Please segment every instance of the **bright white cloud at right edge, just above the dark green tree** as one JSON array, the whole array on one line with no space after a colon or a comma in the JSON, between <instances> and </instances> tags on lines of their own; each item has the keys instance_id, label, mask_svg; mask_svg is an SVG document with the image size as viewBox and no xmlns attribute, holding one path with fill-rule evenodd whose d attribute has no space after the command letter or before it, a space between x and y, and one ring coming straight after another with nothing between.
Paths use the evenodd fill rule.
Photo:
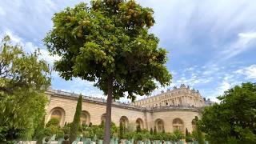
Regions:
<instances>
[{"instance_id":1,"label":"bright white cloud at right edge, just above the dark green tree","mask_svg":"<svg viewBox=\"0 0 256 144\"><path fill-rule=\"evenodd\" d=\"M246 79L256 79L256 65L244 67L242 69L236 70L234 73L245 75Z\"/></svg>"}]
</instances>

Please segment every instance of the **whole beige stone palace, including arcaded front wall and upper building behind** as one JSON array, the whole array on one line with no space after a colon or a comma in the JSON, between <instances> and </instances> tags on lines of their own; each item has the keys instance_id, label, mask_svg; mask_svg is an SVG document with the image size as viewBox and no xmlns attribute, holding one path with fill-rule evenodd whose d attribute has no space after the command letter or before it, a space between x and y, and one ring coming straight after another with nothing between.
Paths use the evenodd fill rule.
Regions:
<instances>
[{"instance_id":1,"label":"whole beige stone palace, including arcaded front wall and upper building behind","mask_svg":"<svg viewBox=\"0 0 256 144\"><path fill-rule=\"evenodd\" d=\"M49 98L46 122L50 118L59 118L61 126L72 122L79 95L60 90L48 90L46 94ZM122 122L131 129L140 125L147 130L156 126L158 131L173 132L178 129L185 132L186 128L189 131L194 129L194 118L200 117L201 106L204 106L204 101L198 91L182 85L134 103L113 102L111 118L117 126ZM99 125L105 118L106 100L83 96L81 124L89 125L91 122Z\"/></svg>"}]
</instances>

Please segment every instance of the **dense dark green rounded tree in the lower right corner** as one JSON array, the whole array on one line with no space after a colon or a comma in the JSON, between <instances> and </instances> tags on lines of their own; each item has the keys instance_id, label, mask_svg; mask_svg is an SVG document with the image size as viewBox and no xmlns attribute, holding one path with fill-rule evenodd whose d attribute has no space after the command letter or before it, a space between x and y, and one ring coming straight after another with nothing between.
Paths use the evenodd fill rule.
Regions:
<instances>
[{"instance_id":1,"label":"dense dark green rounded tree in the lower right corner","mask_svg":"<svg viewBox=\"0 0 256 144\"><path fill-rule=\"evenodd\" d=\"M206 107L199 128L211 143L256 143L256 83L227 90L220 104Z\"/></svg>"}]
</instances>

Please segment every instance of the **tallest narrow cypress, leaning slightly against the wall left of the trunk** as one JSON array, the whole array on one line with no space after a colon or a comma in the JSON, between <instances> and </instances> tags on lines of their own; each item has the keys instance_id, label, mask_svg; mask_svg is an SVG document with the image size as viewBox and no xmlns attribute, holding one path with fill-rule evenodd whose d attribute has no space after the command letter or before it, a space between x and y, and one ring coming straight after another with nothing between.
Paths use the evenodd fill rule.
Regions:
<instances>
[{"instance_id":1,"label":"tallest narrow cypress, leaning slightly against the wall left of the trunk","mask_svg":"<svg viewBox=\"0 0 256 144\"><path fill-rule=\"evenodd\" d=\"M81 111L82 111L82 95L80 95L78 98L78 104L75 110L74 120L70 127L70 143L74 142L75 139L77 138L78 126L80 125Z\"/></svg>"}]
</instances>

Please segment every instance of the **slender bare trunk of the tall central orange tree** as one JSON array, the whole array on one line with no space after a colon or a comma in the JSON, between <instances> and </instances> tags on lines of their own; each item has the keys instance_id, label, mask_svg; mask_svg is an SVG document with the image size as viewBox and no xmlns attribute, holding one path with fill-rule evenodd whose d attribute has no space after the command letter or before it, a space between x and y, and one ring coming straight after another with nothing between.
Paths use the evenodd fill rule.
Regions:
<instances>
[{"instance_id":1,"label":"slender bare trunk of the tall central orange tree","mask_svg":"<svg viewBox=\"0 0 256 144\"><path fill-rule=\"evenodd\" d=\"M113 94L113 76L109 76L107 82L107 100L106 100L106 123L105 123L105 135L104 144L110 144L110 125L111 125L111 105Z\"/></svg>"}]
</instances>

